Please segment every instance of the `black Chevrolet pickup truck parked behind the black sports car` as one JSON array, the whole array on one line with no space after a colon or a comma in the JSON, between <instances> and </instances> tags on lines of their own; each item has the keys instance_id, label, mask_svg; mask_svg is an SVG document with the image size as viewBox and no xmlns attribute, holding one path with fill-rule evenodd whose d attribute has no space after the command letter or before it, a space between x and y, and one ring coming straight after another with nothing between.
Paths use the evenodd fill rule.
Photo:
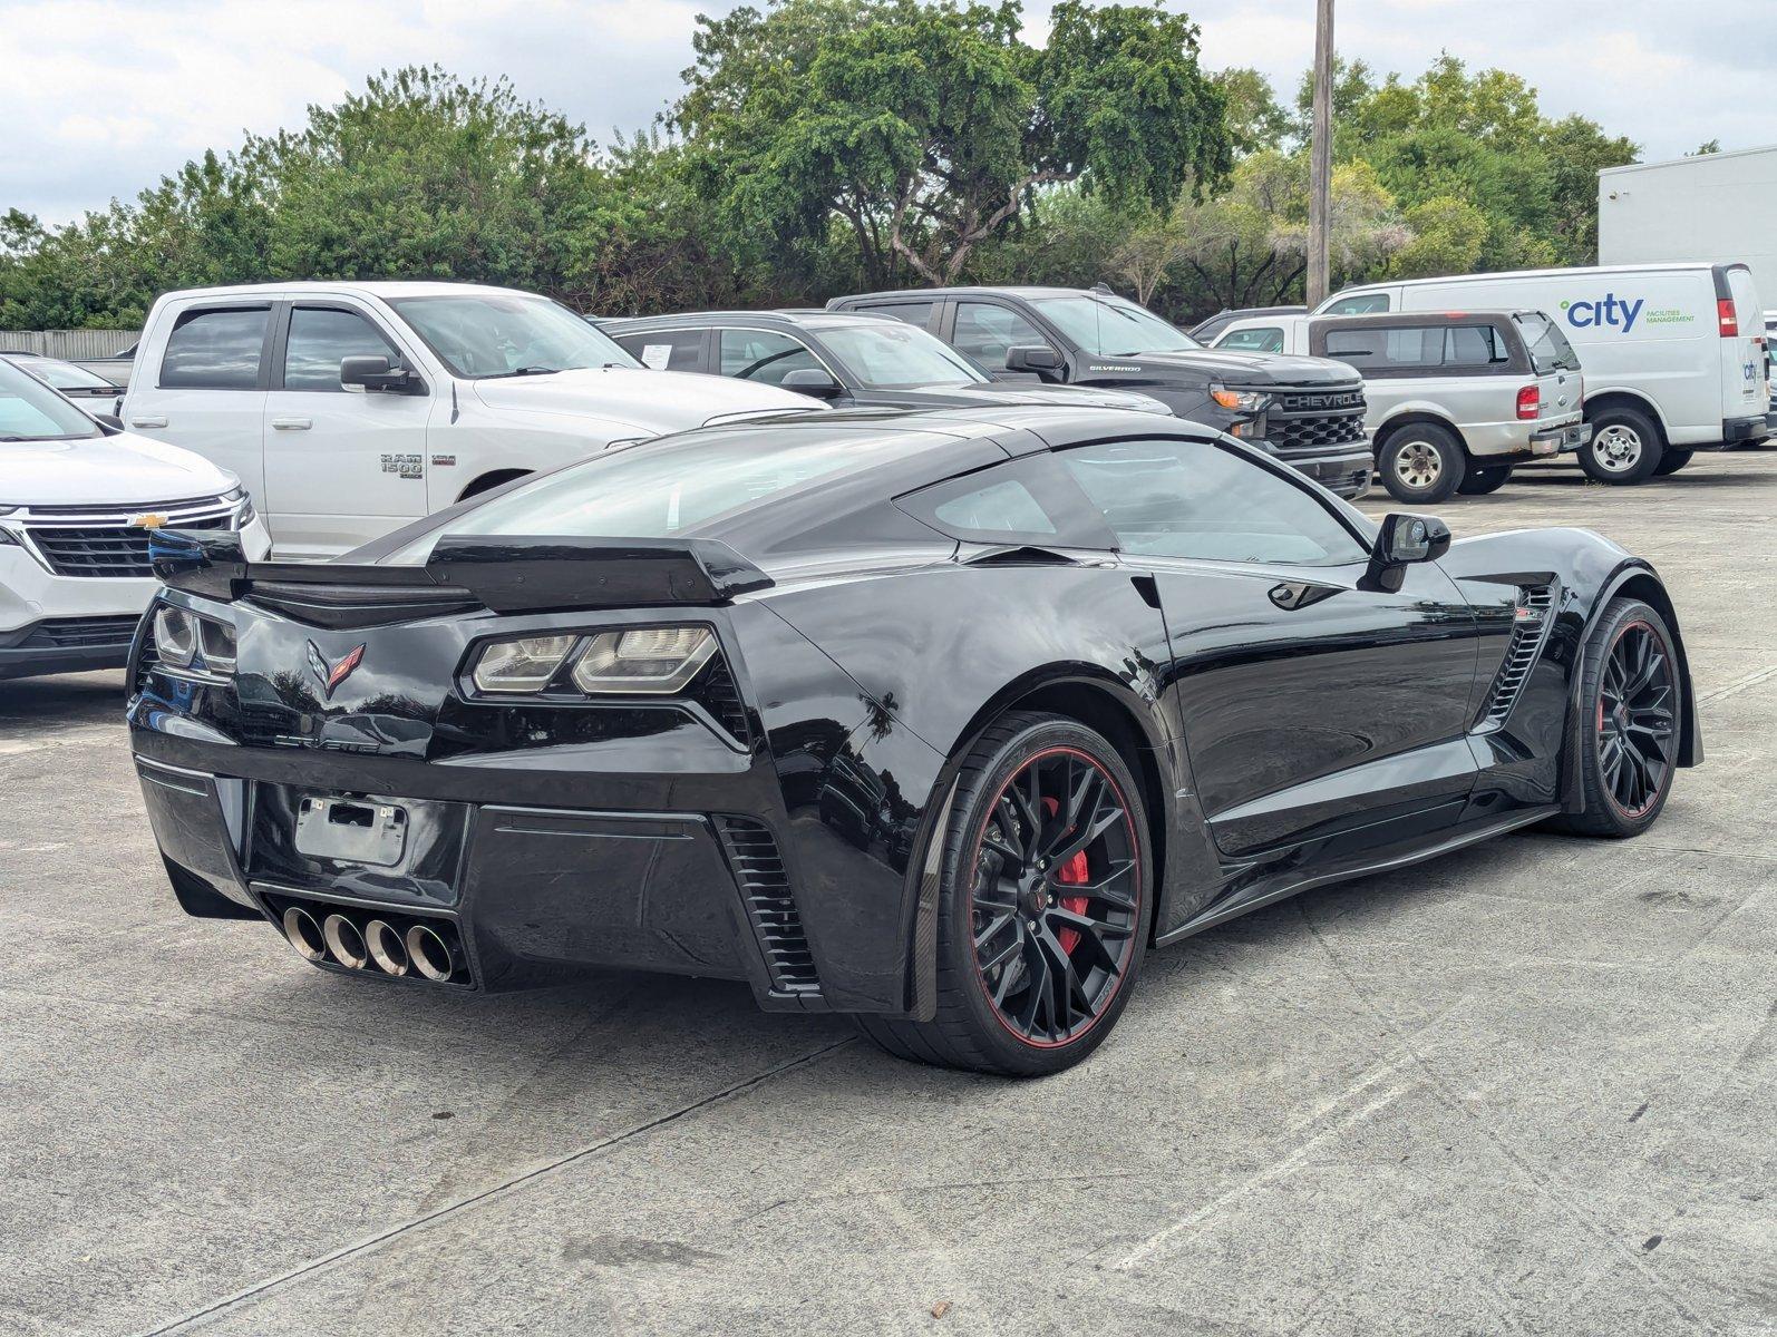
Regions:
<instances>
[{"instance_id":1,"label":"black Chevrolet pickup truck parked behind the black sports car","mask_svg":"<svg viewBox=\"0 0 1777 1337\"><path fill-rule=\"evenodd\" d=\"M1363 378L1343 362L1212 352L1096 288L908 288L826 305L919 325L995 376L1139 391L1178 417L1263 442L1342 497L1370 490Z\"/></svg>"}]
</instances>

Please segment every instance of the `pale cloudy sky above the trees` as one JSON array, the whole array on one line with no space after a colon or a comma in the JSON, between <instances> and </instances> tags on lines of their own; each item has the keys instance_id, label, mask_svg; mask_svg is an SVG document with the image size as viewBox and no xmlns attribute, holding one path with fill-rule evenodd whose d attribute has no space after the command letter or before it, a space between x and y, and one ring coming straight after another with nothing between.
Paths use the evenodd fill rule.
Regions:
<instances>
[{"instance_id":1,"label":"pale cloudy sky above the trees","mask_svg":"<svg viewBox=\"0 0 1777 1337\"><path fill-rule=\"evenodd\" d=\"M1530 80L1676 158L1777 142L1770 0L1336 0L1335 46L1418 75L1448 50ZM243 131L297 126L368 75L441 64L506 75L599 140L649 124L691 62L698 12L730 0L0 0L0 210L66 222L131 199ZM1313 0L1166 0L1203 30L1208 69L1256 66L1294 96ZM1025 0L1032 39L1043 0Z\"/></svg>"}]
</instances>

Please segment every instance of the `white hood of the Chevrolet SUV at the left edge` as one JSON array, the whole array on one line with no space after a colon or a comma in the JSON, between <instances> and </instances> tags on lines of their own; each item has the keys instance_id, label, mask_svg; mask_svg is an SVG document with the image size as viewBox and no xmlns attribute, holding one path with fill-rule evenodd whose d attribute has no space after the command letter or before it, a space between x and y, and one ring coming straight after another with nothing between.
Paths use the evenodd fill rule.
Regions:
<instances>
[{"instance_id":1,"label":"white hood of the Chevrolet SUV at the left edge","mask_svg":"<svg viewBox=\"0 0 1777 1337\"><path fill-rule=\"evenodd\" d=\"M0 440L0 506L199 501L238 483L201 455L130 431L82 440Z\"/></svg>"}]
</instances>

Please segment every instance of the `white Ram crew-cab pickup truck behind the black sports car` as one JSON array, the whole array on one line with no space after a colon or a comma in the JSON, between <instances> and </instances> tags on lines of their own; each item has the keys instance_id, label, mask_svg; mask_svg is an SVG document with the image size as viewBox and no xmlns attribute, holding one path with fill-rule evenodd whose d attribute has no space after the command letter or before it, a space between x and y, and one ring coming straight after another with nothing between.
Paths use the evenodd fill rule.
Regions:
<instances>
[{"instance_id":1,"label":"white Ram crew-cab pickup truck behind the black sports car","mask_svg":"<svg viewBox=\"0 0 1777 1337\"><path fill-rule=\"evenodd\" d=\"M167 293L123 400L131 431L238 474L288 559L617 442L780 412L826 408L649 371L556 302L444 282Z\"/></svg>"}]
</instances>

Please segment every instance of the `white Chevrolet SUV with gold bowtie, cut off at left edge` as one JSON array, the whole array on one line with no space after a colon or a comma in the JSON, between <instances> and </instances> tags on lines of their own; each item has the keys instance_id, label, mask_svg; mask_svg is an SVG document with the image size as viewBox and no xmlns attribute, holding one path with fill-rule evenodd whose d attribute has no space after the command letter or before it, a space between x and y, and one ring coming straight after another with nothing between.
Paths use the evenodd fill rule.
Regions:
<instances>
[{"instance_id":1,"label":"white Chevrolet SUV with gold bowtie, cut off at left edge","mask_svg":"<svg viewBox=\"0 0 1777 1337\"><path fill-rule=\"evenodd\" d=\"M123 668L155 595L155 527L270 540L208 460L103 428L0 360L0 680Z\"/></svg>"}]
</instances>

